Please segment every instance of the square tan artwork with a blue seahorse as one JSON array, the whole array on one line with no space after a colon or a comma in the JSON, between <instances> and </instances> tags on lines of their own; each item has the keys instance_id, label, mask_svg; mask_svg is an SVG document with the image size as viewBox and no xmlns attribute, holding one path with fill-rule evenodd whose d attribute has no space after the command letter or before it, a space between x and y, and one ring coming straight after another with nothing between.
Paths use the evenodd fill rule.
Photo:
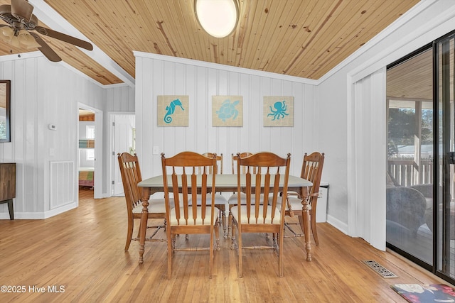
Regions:
<instances>
[{"instance_id":1,"label":"square tan artwork with a blue seahorse","mask_svg":"<svg viewBox=\"0 0 455 303\"><path fill-rule=\"evenodd\" d=\"M188 96L158 96L158 126L188 126Z\"/></svg>"}]
</instances>

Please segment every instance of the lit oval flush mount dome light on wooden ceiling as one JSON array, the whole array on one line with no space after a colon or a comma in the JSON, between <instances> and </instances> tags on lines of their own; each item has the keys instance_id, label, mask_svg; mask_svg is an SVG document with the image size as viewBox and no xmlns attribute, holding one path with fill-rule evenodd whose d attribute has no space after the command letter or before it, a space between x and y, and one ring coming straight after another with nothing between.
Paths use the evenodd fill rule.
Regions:
<instances>
[{"instance_id":1,"label":"lit oval flush mount dome light on wooden ceiling","mask_svg":"<svg viewBox=\"0 0 455 303\"><path fill-rule=\"evenodd\" d=\"M215 38L230 35L239 21L237 0L194 0L196 20Z\"/></svg>"}]
</instances>

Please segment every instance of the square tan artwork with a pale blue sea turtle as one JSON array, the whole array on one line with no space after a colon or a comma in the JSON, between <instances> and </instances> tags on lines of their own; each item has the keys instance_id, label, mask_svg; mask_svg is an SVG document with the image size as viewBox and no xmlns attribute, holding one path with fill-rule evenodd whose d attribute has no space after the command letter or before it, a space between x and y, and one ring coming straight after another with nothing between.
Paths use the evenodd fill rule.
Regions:
<instances>
[{"instance_id":1,"label":"square tan artwork with a pale blue sea turtle","mask_svg":"<svg viewBox=\"0 0 455 303\"><path fill-rule=\"evenodd\" d=\"M212 96L212 126L243 126L243 97Z\"/></svg>"}]
</instances>

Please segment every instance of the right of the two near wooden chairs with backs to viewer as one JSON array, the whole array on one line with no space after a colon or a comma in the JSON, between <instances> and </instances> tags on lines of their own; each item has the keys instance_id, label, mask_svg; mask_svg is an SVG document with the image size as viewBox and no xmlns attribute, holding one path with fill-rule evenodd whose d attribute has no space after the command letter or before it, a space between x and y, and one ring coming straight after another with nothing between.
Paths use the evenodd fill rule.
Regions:
<instances>
[{"instance_id":1,"label":"right of the two near wooden chairs with backs to viewer","mask_svg":"<svg viewBox=\"0 0 455 303\"><path fill-rule=\"evenodd\" d=\"M278 253L278 273L283 277L283 232L284 209L289 180L291 154L280 158L274 153L256 153L237 158L237 192L245 192L245 205L237 196L237 205L232 211L232 247L239 253L239 277L242 271L242 249L273 249ZM241 171L245 167L245 183ZM252 172L257 167L257 172ZM280 182L282 186L280 186ZM259 186L257 186L259 185ZM269 199L270 197L270 199ZM269 200L270 203L267 203ZM281 207L279 207L281 205ZM238 245L235 229L237 229ZM242 246L243 233L273 233L271 246ZM276 239L278 239L276 241Z\"/></svg>"}]
</instances>

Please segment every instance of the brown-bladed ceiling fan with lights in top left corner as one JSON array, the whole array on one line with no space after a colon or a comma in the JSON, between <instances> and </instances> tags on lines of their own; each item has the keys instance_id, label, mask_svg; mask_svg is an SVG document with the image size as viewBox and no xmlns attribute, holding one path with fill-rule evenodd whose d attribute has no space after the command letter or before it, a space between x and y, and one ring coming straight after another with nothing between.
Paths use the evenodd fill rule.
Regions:
<instances>
[{"instance_id":1,"label":"brown-bladed ceiling fan with lights in top left corner","mask_svg":"<svg viewBox=\"0 0 455 303\"><path fill-rule=\"evenodd\" d=\"M15 47L38 48L45 57L53 62L58 62L62 59L45 43L40 35L33 31L86 50L93 50L91 43L38 26L38 18L32 12L33 6L27 0L11 0L11 5L0 5L0 19L8 23L0 24L0 38Z\"/></svg>"}]
</instances>

